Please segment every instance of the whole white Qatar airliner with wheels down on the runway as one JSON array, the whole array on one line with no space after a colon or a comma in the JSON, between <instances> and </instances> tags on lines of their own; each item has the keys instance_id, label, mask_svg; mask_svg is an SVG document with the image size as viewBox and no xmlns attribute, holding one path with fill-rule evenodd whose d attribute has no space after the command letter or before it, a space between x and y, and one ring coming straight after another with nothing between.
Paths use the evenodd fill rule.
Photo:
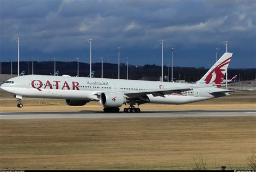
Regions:
<instances>
[{"instance_id":1,"label":"whole white Qatar airliner with wheels down on the runway","mask_svg":"<svg viewBox=\"0 0 256 172\"><path fill-rule=\"evenodd\" d=\"M14 94L21 108L22 98L64 99L66 105L83 106L98 101L104 112L140 112L146 103L181 105L230 95L238 90L220 88L232 53L223 56L210 68L197 84L143 81L127 79L102 79L69 76L24 75L11 78L1 86ZM239 90L241 91L241 90ZM242 90L245 91L245 90Z\"/></svg>"}]
</instances>

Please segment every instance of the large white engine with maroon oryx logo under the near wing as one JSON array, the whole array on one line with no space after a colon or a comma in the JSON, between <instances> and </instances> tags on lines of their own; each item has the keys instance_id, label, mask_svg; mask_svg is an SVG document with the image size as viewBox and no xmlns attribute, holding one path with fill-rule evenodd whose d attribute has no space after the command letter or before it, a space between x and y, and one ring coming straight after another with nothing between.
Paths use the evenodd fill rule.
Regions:
<instances>
[{"instance_id":1,"label":"large white engine with maroon oryx logo under the near wing","mask_svg":"<svg viewBox=\"0 0 256 172\"><path fill-rule=\"evenodd\" d=\"M120 107L127 102L123 94L104 92L100 94L100 105L104 107Z\"/></svg>"}]
</instances>

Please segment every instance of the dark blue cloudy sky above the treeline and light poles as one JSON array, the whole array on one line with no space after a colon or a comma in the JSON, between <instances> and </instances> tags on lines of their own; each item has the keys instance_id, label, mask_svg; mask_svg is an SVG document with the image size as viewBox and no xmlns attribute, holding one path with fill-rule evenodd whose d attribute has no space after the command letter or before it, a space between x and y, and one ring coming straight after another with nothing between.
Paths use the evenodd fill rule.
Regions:
<instances>
[{"instance_id":1,"label":"dark blue cloudy sky above the treeline and light poles","mask_svg":"<svg viewBox=\"0 0 256 172\"><path fill-rule=\"evenodd\" d=\"M210 67L226 52L230 68L256 67L256 1L73 1L0 0L0 61L75 61L92 63Z\"/></svg>"}]
</instances>

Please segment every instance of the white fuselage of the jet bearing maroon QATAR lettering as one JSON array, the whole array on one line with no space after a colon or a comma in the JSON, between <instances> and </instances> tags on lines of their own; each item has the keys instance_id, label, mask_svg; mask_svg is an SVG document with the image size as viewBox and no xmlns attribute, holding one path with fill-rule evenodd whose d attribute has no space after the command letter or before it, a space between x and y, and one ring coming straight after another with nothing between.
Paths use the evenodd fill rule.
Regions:
<instances>
[{"instance_id":1,"label":"white fuselage of the jet bearing maroon QATAR lettering","mask_svg":"<svg viewBox=\"0 0 256 172\"><path fill-rule=\"evenodd\" d=\"M85 77L62 77L51 75L24 75L9 79L1 88L14 95L30 98L76 99L99 101L98 92L125 93L159 88L194 86L195 84L140 81L124 79L102 79ZM154 97L147 94L150 103L154 104L187 104L214 98L208 92L221 90L216 87L194 88L182 94L166 94L164 97Z\"/></svg>"}]
</instances>

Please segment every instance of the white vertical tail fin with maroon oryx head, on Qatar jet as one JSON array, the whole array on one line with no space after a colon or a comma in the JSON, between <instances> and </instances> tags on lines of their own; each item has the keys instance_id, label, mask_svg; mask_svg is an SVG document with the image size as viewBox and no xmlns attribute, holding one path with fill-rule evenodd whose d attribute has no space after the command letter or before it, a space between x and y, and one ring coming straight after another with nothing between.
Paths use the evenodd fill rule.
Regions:
<instances>
[{"instance_id":1,"label":"white vertical tail fin with maroon oryx head, on Qatar jet","mask_svg":"<svg viewBox=\"0 0 256 172\"><path fill-rule=\"evenodd\" d=\"M210 70L198 81L198 84L211 84L221 86L221 82L227 72L233 53L226 52L221 58L210 68Z\"/></svg>"}]
</instances>

